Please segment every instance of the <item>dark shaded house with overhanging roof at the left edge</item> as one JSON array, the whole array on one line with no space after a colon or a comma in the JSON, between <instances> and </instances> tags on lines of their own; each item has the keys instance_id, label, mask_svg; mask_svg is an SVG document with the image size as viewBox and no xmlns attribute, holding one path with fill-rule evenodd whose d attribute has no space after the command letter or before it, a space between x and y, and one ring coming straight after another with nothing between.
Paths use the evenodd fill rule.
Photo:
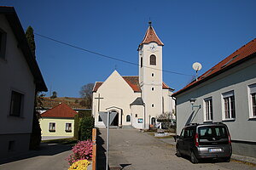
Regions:
<instances>
[{"instance_id":1,"label":"dark shaded house with overhanging roof at the left edge","mask_svg":"<svg viewBox=\"0 0 256 170\"><path fill-rule=\"evenodd\" d=\"M29 150L35 94L47 91L13 7L0 7L0 159Z\"/></svg>"}]
</instances>

